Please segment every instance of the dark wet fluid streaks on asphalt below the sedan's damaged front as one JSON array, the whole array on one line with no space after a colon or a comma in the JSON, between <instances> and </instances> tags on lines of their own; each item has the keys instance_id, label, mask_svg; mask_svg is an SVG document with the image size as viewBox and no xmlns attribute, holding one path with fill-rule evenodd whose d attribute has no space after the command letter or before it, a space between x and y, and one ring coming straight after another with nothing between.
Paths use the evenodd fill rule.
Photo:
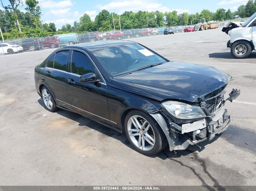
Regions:
<instances>
[{"instance_id":1,"label":"dark wet fluid streaks on asphalt below the sedan's damaged front","mask_svg":"<svg viewBox=\"0 0 256 191\"><path fill-rule=\"evenodd\" d=\"M196 172L196 170L195 170L193 167L190 167L190 166L188 166L188 165L186 165L186 164L183 164L183 162L181 162L181 161L178 161L178 160L175 160L175 159L171 158L171 157L168 156L168 154L166 154L165 152L164 152L164 154L165 154L166 158L168 158L169 160L175 161L175 162L179 163L181 166L184 166L184 167L189 168L189 169L194 173L194 175L197 176L199 180L201 180L202 186L204 186L205 188L207 188L209 191L216 191L214 188L212 188L211 186L209 186L209 185L204 181L204 179ZM204 173L206 173L206 174L208 175L208 177L210 177L210 179L214 182L214 187L216 187L219 191L225 191L226 189L225 189L224 187L222 187L214 177L211 176L211 174L209 173L209 171L208 171L207 168L206 168L206 165L205 165L204 160L198 158L197 153L191 153L191 154L194 155L194 159L195 159L195 160L197 160L198 162L200 162L200 165L203 167Z\"/></svg>"}]
</instances>

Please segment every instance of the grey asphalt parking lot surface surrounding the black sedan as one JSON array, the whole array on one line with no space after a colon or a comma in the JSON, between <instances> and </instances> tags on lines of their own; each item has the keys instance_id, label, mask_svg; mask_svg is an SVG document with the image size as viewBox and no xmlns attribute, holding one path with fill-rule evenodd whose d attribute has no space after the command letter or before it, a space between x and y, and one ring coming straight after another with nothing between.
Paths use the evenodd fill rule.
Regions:
<instances>
[{"instance_id":1,"label":"grey asphalt parking lot surface surrounding the black sedan","mask_svg":"<svg viewBox=\"0 0 256 191\"><path fill-rule=\"evenodd\" d=\"M221 29L131 39L170 60L217 67L241 89L231 125L209 142L148 157L125 134L88 118L48 112L34 67L53 49L0 56L0 185L256 185L256 52L233 59Z\"/></svg>"}]
</instances>

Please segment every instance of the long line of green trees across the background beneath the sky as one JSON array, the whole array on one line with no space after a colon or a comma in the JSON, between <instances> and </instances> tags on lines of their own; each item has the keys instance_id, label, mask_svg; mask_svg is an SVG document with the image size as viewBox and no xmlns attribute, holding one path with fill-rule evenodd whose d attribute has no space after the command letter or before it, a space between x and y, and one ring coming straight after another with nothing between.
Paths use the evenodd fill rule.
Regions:
<instances>
[{"instance_id":1,"label":"long line of green trees across the background beneath the sky","mask_svg":"<svg viewBox=\"0 0 256 191\"><path fill-rule=\"evenodd\" d=\"M250 17L256 12L256 0L249 0L246 5L239 6L234 12L231 12L230 9L219 8L216 12L204 9L195 14L188 14L187 12L178 14L174 10L165 13L160 11L125 11L118 15L102 10L95 17L95 21L91 21L90 16L84 14L79 22L74 22L73 26L65 24L61 29L56 30L54 23L43 24L41 8L37 0L25 0L25 13L18 9L23 5L22 0L8 0L7 5L4 5L2 0L0 1L4 8L4 10L0 10L0 27L4 39L45 37L70 32L107 31L113 30L114 26L116 29L120 29L119 22L121 29L194 25L200 18L205 18L207 22L223 21L231 20L235 15L239 15L241 18Z\"/></svg>"}]
</instances>

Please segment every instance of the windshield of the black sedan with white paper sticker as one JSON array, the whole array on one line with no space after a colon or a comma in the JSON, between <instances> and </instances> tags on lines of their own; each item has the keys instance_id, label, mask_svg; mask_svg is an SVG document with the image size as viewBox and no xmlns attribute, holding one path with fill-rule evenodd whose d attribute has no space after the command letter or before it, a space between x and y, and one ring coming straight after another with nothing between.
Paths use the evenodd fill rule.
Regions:
<instances>
[{"instance_id":1,"label":"windshield of the black sedan with white paper sticker","mask_svg":"<svg viewBox=\"0 0 256 191\"><path fill-rule=\"evenodd\" d=\"M113 46L94 50L101 68L111 77L144 69L145 66L165 63L166 60L139 44Z\"/></svg>"}]
</instances>

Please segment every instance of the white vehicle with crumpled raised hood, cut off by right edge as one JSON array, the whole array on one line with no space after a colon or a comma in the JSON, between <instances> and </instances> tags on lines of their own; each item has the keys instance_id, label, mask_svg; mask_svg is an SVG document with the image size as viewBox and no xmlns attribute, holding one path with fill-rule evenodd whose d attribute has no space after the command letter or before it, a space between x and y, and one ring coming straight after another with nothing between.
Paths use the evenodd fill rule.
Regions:
<instances>
[{"instance_id":1,"label":"white vehicle with crumpled raised hood, cut off by right edge","mask_svg":"<svg viewBox=\"0 0 256 191\"><path fill-rule=\"evenodd\" d=\"M222 31L230 36L227 47L231 48L234 58L247 58L253 50L256 50L256 13L243 24L229 21Z\"/></svg>"}]
</instances>

